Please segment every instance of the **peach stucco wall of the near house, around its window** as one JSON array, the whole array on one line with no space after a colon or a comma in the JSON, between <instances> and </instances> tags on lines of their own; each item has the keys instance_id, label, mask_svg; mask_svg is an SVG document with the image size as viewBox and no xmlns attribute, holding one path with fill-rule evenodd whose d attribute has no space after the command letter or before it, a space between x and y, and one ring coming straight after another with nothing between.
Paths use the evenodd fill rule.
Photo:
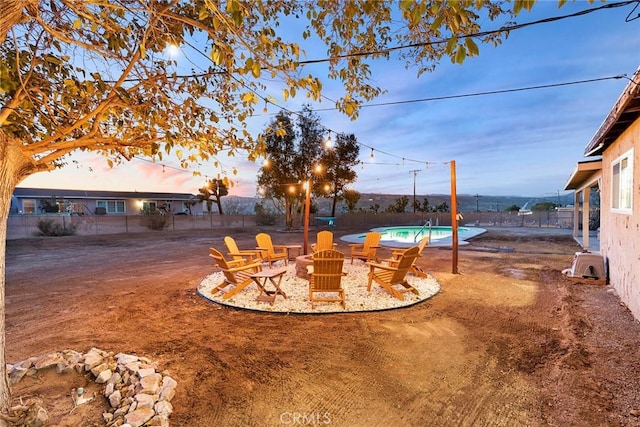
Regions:
<instances>
[{"instance_id":1,"label":"peach stucco wall of the near house, around its window","mask_svg":"<svg viewBox=\"0 0 640 427\"><path fill-rule=\"evenodd\" d=\"M611 211L612 162L634 148L632 213ZM636 120L602 155L600 250L609 282L640 319L640 120Z\"/></svg>"}]
</instances>

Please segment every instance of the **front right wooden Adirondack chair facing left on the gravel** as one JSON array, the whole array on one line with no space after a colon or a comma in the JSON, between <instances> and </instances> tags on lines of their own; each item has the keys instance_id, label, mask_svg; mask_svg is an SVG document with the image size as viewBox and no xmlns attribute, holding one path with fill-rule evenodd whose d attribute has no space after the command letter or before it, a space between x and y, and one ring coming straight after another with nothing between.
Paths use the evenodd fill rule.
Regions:
<instances>
[{"instance_id":1,"label":"front right wooden Adirondack chair facing left on the gravel","mask_svg":"<svg viewBox=\"0 0 640 427\"><path fill-rule=\"evenodd\" d=\"M414 246L404 251L395 266L368 262L367 265L369 265L370 269L367 290L371 291L371 283L376 282L399 300L404 300L403 294L406 292L413 292L418 295L418 290L407 283L405 278L411 269L411 265L418 257L418 250L419 248Z\"/></svg>"}]
</instances>

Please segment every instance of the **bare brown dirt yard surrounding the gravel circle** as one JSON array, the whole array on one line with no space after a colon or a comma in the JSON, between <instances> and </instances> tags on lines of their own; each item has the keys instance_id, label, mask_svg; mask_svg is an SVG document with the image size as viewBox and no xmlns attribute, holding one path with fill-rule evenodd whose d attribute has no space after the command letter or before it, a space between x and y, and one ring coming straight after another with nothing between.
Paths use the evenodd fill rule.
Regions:
<instances>
[{"instance_id":1,"label":"bare brown dirt yard surrounding the gravel circle","mask_svg":"<svg viewBox=\"0 0 640 427\"><path fill-rule=\"evenodd\" d=\"M426 249L438 295L329 315L198 296L225 234L255 245L246 230L9 241L7 360L146 356L178 381L174 426L640 426L640 324L610 287L562 276L579 250L566 233L491 229L461 247L456 275L450 250ZM39 396L50 425L104 425L102 399L71 411L77 386L92 390L44 372L14 396Z\"/></svg>"}]
</instances>

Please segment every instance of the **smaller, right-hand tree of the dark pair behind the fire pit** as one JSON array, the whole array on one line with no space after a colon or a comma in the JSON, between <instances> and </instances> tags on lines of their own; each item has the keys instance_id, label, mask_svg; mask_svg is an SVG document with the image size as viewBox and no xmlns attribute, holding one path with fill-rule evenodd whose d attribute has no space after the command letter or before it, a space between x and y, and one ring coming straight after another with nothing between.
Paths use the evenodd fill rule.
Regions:
<instances>
[{"instance_id":1,"label":"smaller, right-hand tree of the dark pair behind the fire pit","mask_svg":"<svg viewBox=\"0 0 640 427\"><path fill-rule=\"evenodd\" d=\"M336 216L336 206L338 200L345 197L345 187L354 182L358 176L353 168L359 163L359 155L360 146L355 135L338 134L335 145L327 148L320 159L326 167L326 181L331 183L333 196L331 216Z\"/></svg>"}]
</instances>

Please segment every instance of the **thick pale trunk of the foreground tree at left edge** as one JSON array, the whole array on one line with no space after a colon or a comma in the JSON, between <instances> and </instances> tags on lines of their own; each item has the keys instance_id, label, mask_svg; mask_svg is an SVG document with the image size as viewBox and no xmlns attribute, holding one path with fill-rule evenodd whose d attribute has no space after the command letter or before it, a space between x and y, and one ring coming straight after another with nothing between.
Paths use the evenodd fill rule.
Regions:
<instances>
[{"instance_id":1,"label":"thick pale trunk of the foreground tree at left edge","mask_svg":"<svg viewBox=\"0 0 640 427\"><path fill-rule=\"evenodd\" d=\"M35 171L32 161L22 153L21 144L0 129L0 411L7 414L11 406L11 388L5 355L5 275L7 254L7 219L11 196L16 185ZM6 425L0 420L0 426Z\"/></svg>"}]
</instances>

